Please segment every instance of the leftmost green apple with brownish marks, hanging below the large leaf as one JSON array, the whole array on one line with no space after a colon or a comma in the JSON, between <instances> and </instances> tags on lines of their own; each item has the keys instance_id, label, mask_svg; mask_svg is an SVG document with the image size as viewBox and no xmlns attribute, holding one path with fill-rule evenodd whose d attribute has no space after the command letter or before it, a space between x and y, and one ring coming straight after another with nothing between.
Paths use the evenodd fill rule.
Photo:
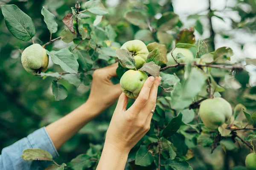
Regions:
<instances>
[{"instance_id":1,"label":"leftmost green apple with brownish marks, hanging below the large leaf","mask_svg":"<svg viewBox=\"0 0 256 170\"><path fill-rule=\"evenodd\" d=\"M47 71L49 57L40 44L33 44L23 51L21 62L27 72L40 74Z\"/></svg>"}]
</instances>

